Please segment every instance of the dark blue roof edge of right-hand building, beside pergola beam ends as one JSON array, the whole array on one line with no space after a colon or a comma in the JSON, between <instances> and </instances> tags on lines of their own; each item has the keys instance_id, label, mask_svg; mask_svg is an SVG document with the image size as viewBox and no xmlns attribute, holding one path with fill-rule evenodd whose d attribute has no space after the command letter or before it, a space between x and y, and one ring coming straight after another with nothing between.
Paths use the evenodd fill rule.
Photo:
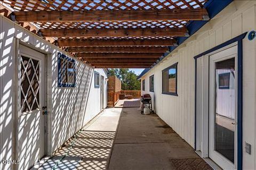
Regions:
<instances>
[{"instance_id":1,"label":"dark blue roof edge of right-hand building, beside pergola beam ends","mask_svg":"<svg viewBox=\"0 0 256 170\"><path fill-rule=\"evenodd\" d=\"M218 1L218 0L209 0L204 4L203 8L206 8L208 14L209 14L209 18L210 20L217 15L220 11L222 11L226 6L228 6L231 2L233 2L233 0L222 0L222 1ZM210 21L209 20L209 21ZM190 36L194 35L194 33L196 31L198 31L200 28L202 28L207 22L209 21L190 21L187 24L187 29L188 29L188 33ZM190 37L189 36L189 37ZM178 37L177 40L177 44L178 46L169 46L169 53L164 53L163 57L159 58L158 60L161 61L163 60L163 58L167 55L169 55L175 48L179 47L179 45L181 45L185 40L187 40L189 37ZM157 64L157 63L156 63ZM156 65L155 64L155 65ZM154 66L155 66L154 65ZM154 67L153 66L153 67ZM147 68L144 69L140 75L138 76L137 80L139 80L143 75L145 75L151 68Z\"/></svg>"}]
</instances>

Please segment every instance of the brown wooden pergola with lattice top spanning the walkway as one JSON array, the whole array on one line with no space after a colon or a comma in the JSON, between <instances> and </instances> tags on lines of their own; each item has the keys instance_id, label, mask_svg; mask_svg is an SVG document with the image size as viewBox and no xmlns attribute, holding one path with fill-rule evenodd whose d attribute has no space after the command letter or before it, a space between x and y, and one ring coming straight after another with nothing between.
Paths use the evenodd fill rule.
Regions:
<instances>
[{"instance_id":1,"label":"brown wooden pergola with lattice top spanning the walkway","mask_svg":"<svg viewBox=\"0 0 256 170\"><path fill-rule=\"evenodd\" d=\"M3 1L9 16L96 68L148 68L207 21L207 0Z\"/></svg>"}]
</instances>

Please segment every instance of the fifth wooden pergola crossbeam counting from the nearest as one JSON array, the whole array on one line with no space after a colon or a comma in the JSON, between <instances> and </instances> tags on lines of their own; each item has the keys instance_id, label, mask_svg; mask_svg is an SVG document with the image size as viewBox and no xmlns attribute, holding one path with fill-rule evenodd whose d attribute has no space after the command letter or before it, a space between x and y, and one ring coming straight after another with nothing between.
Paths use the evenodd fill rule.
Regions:
<instances>
[{"instance_id":1,"label":"fifth wooden pergola crossbeam counting from the nearest","mask_svg":"<svg viewBox=\"0 0 256 170\"><path fill-rule=\"evenodd\" d=\"M159 53L77 53L86 58L159 58Z\"/></svg>"}]
</instances>

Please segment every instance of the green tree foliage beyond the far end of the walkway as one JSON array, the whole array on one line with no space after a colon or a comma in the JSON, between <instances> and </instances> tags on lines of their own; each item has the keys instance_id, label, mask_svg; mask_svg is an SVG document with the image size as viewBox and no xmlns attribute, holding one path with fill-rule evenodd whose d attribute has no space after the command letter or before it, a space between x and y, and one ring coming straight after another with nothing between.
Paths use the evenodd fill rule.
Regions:
<instances>
[{"instance_id":1,"label":"green tree foliage beyond the far end of the walkway","mask_svg":"<svg viewBox=\"0 0 256 170\"><path fill-rule=\"evenodd\" d=\"M109 75L116 75L122 81L122 90L140 90L137 75L129 69L109 69Z\"/></svg>"}]
</instances>

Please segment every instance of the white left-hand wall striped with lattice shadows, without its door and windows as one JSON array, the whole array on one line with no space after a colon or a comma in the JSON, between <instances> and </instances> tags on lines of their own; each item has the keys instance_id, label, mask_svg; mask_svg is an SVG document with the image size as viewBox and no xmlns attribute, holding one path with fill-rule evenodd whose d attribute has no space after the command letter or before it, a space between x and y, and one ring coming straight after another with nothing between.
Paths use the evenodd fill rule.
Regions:
<instances>
[{"instance_id":1,"label":"white left-hand wall striped with lattice shadows, without its door and windows","mask_svg":"<svg viewBox=\"0 0 256 170\"><path fill-rule=\"evenodd\" d=\"M14 120L14 61L15 37L36 46L51 57L51 103L48 116L51 116L52 151L60 147L75 132L81 129L94 116L100 113L100 88L94 88L94 69L76 60L76 88L58 88L58 52L60 48L29 32L20 25L0 15L0 169L10 169L11 164L3 166L2 160L12 160L13 120ZM68 54L66 54L68 55ZM71 56L69 56L71 57ZM107 78L103 69L95 69ZM105 82L105 106L107 106L107 82Z\"/></svg>"}]
</instances>

